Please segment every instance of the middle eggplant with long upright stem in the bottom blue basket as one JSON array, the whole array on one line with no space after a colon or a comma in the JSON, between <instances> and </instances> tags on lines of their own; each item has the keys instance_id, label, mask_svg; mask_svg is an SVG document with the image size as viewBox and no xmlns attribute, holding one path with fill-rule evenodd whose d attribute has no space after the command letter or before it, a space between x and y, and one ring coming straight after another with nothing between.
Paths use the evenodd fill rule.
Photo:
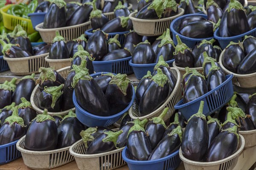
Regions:
<instances>
[{"instance_id":1,"label":"middle eggplant with long upright stem in the bottom blue basket","mask_svg":"<svg viewBox=\"0 0 256 170\"><path fill-rule=\"evenodd\" d=\"M169 108L165 108L159 116L153 117L145 127L145 131L148 132L148 139L152 150L154 150L157 144L162 140L163 134L166 131L163 118L166 116L168 110Z\"/></svg>"}]
</instances>

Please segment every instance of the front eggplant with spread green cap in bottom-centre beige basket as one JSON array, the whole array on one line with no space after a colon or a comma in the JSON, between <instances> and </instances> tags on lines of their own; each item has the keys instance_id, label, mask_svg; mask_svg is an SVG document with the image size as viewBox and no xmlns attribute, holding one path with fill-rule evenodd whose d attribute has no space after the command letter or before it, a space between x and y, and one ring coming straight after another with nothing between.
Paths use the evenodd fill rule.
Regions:
<instances>
[{"instance_id":1,"label":"front eggplant with spread green cap in bottom-centre beige basket","mask_svg":"<svg viewBox=\"0 0 256 170\"><path fill-rule=\"evenodd\" d=\"M103 130L103 133L90 143L85 154L105 153L118 149L118 147L116 147L116 140L121 133L122 130L117 132Z\"/></svg>"}]
</instances>

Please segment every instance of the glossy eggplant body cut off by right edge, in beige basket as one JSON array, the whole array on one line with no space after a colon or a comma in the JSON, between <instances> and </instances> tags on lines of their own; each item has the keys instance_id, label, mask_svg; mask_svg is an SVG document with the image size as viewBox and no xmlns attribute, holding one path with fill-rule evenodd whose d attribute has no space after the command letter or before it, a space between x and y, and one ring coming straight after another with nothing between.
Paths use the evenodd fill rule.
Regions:
<instances>
[{"instance_id":1,"label":"glossy eggplant body cut off by right edge, in beige basket","mask_svg":"<svg viewBox=\"0 0 256 170\"><path fill-rule=\"evenodd\" d=\"M256 72L256 48L251 51L239 64L237 74L251 74Z\"/></svg>"}]
</instances>

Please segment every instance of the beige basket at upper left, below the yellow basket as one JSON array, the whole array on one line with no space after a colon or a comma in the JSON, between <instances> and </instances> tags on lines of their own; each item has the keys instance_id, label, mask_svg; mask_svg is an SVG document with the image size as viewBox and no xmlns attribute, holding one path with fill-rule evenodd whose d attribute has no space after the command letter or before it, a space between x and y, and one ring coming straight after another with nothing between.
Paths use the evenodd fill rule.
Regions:
<instances>
[{"instance_id":1,"label":"beige basket at upper left, below the yellow basket","mask_svg":"<svg viewBox=\"0 0 256 170\"><path fill-rule=\"evenodd\" d=\"M11 72L15 75L29 75L38 73L40 67L49 67L48 62L44 59L47 55L49 55L49 53L23 58L9 58L3 56L3 59L7 61Z\"/></svg>"}]
</instances>

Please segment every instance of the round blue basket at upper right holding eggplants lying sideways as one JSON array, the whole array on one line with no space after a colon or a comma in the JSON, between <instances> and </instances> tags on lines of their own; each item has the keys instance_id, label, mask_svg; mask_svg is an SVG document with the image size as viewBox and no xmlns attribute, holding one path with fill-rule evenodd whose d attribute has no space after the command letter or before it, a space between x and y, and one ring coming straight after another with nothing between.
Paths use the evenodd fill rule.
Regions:
<instances>
[{"instance_id":1,"label":"round blue basket at upper right holding eggplants lying sideways","mask_svg":"<svg viewBox=\"0 0 256 170\"><path fill-rule=\"evenodd\" d=\"M175 20L172 21L171 26L170 26L170 30L172 31L172 40L174 41L175 45L177 45L177 38L176 35L178 35L180 37L180 40L185 43L189 48L193 48L196 44L198 44L199 42L201 42L202 40L211 40L214 37L209 37L209 38L189 38L186 36L183 36L181 34L179 34L177 31L179 30L180 27L180 23L184 20L184 18L188 17L188 16L202 16L204 18L207 19L207 15L206 14L186 14L180 17L177 17Z\"/></svg>"}]
</instances>

